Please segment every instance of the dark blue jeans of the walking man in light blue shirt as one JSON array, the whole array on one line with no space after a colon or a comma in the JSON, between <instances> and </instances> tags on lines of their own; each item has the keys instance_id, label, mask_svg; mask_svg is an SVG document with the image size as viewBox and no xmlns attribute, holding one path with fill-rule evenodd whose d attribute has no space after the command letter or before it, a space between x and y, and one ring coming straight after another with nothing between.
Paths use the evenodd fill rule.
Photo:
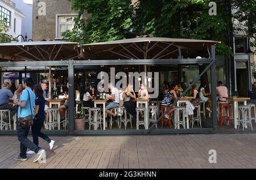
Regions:
<instances>
[{"instance_id":1,"label":"dark blue jeans of the walking man in light blue shirt","mask_svg":"<svg viewBox=\"0 0 256 180\"><path fill-rule=\"evenodd\" d=\"M38 153L40 148L35 145L31 140L27 139L28 132L30 132L30 127L21 128L17 125L18 140L20 141L20 157L27 158L27 148Z\"/></svg>"}]
</instances>

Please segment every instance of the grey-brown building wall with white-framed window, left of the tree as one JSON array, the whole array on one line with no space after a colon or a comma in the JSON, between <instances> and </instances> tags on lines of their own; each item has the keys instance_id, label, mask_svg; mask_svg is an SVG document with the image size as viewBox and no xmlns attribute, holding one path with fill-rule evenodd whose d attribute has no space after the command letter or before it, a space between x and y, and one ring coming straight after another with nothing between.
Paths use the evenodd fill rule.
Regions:
<instances>
[{"instance_id":1,"label":"grey-brown building wall with white-framed window, left of the tree","mask_svg":"<svg viewBox=\"0 0 256 180\"><path fill-rule=\"evenodd\" d=\"M72 30L78 13L71 9L72 3L63 0L33 1L32 39L60 40L61 32ZM89 18L84 14L82 18Z\"/></svg>"}]
</instances>

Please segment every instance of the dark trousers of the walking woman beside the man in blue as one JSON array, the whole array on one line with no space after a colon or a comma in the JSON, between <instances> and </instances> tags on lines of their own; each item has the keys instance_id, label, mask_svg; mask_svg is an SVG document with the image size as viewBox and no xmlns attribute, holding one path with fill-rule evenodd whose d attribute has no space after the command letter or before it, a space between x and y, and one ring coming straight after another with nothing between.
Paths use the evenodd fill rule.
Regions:
<instances>
[{"instance_id":1,"label":"dark trousers of the walking woman beside the man in blue","mask_svg":"<svg viewBox=\"0 0 256 180\"><path fill-rule=\"evenodd\" d=\"M32 125L32 137L33 137L33 142L35 145L38 146L38 137L41 137L42 139L46 140L47 143L51 143L51 139L49 139L48 136L46 136L44 133L41 132L42 125L44 124L44 119L34 119L33 120L33 125Z\"/></svg>"}]
</instances>

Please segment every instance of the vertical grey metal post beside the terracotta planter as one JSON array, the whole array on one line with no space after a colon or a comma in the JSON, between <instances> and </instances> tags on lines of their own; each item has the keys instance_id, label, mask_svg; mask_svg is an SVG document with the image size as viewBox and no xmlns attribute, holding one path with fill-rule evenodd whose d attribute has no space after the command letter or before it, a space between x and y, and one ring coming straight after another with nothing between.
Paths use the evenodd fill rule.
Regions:
<instances>
[{"instance_id":1,"label":"vertical grey metal post beside the terracotta planter","mask_svg":"<svg viewBox=\"0 0 256 180\"><path fill-rule=\"evenodd\" d=\"M73 123L74 123L74 65L73 61L69 61L68 65L68 131L69 135L73 133Z\"/></svg>"}]
</instances>

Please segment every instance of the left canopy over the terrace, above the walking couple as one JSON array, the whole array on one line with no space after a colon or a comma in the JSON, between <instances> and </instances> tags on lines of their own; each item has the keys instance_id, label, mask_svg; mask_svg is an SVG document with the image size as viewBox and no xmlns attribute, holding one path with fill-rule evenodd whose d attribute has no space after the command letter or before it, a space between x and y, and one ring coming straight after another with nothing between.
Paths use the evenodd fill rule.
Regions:
<instances>
[{"instance_id":1,"label":"left canopy over the terrace, above the walking couple","mask_svg":"<svg viewBox=\"0 0 256 180\"><path fill-rule=\"evenodd\" d=\"M77 58L77 45L67 41L1 43L2 61L56 61Z\"/></svg>"}]
</instances>

